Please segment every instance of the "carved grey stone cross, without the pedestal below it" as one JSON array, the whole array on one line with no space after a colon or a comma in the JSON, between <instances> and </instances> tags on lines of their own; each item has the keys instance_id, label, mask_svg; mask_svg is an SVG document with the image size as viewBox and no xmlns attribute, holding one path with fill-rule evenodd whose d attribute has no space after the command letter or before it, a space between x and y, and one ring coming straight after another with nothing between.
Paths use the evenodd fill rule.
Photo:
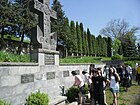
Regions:
<instances>
[{"instance_id":1,"label":"carved grey stone cross, without the pedestal below it","mask_svg":"<svg viewBox=\"0 0 140 105\"><path fill-rule=\"evenodd\" d=\"M37 41L43 49L56 50L57 35L50 33L50 18L57 19L56 12L49 9L50 0L34 0L34 9L39 16L37 26Z\"/></svg>"}]
</instances>

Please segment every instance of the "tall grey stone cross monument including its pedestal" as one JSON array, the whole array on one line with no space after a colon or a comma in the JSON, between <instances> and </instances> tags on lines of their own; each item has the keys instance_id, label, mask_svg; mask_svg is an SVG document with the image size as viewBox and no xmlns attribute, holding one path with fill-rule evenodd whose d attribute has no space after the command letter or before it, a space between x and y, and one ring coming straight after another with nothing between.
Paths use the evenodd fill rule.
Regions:
<instances>
[{"instance_id":1,"label":"tall grey stone cross monument including its pedestal","mask_svg":"<svg viewBox=\"0 0 140 105\"><path fill-rule=\"evenodd\" d=\"M57 19L56 12L49 8L50 0L33 0L31 11L38 15L38 25L32 32L33 50L31 59L40 65L58 65L56 51L57 34L51 33L50 18Z\"/></svg>"}]
</instances>

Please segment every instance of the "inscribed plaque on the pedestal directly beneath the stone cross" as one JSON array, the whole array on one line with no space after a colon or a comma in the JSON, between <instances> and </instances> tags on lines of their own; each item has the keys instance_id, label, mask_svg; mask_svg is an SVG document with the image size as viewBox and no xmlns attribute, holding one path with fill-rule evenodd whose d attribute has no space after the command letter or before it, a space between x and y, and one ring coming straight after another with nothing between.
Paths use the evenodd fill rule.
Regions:
<instances>
[{"instance_id":1,"label":"inscribed plaque on the pedestal directly beneath the stone cross","mask_svg":"<svg viewBox=\"0 0 140 105\"><path fill-rule=\"evenodd\" d=\"M53 54L45 54L45 65L54 65L55 57Z\"/></svg>"}]
</instances>

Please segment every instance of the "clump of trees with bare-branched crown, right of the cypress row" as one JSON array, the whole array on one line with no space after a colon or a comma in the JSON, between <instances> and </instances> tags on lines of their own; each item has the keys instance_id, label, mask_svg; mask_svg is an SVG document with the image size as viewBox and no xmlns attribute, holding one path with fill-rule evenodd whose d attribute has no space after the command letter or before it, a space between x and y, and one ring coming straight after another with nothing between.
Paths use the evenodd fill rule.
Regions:
<instances>
[{"instance_id":1,"label":"clump of trees with bare-branched crown, right of the cypress row","mask_svg":"<svg viewBox=\"0 0 140 105\"><path fill-rule=\"evenodd\" d=\"M113 39L115 53L123 54L124 56L136 56L136 53L132 52L137 52L135 34L139 29L139 27L135 26L130 27L125 20L114 19L108 22L100 33Z\"/></svg>"}]
</instances>

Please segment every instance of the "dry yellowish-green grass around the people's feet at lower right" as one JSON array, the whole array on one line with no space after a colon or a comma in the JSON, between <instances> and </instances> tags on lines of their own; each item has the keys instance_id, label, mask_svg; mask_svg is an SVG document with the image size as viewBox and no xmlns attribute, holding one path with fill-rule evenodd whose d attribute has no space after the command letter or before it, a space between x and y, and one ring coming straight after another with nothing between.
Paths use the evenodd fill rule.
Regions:
<instances>
[{"instance_id":1,"label":"dry yellowish-green grass around the people's feet at lower right","mask_svg":"<svg viewBox=\"0 0 140 105\"><path fill-rule=\"evenodd\" d=\"M106 90L108 105L112 104L112 94L109 89ZM119 105L140 105L140 86L134 81L133 85L125 92L123 87L120 87Z\"/></svg>"}]
</instances>

